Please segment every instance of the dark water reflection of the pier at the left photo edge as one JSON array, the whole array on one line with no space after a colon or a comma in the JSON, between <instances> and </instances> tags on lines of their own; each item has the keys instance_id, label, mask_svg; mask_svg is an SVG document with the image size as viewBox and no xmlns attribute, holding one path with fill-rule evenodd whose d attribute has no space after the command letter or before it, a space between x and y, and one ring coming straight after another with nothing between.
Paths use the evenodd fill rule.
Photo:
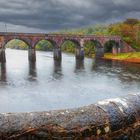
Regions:
<instances>
[{"instance_id":1,"label":"dark water reflection of the pier at the left photo edge","mask_svg":"<svg viewBox=\"0 0 140 140\"><path fill-rule=\"evenodd\" d=\"M0 81L6 82L6 63L0 64Z\"/></svg>"}]
</instances>

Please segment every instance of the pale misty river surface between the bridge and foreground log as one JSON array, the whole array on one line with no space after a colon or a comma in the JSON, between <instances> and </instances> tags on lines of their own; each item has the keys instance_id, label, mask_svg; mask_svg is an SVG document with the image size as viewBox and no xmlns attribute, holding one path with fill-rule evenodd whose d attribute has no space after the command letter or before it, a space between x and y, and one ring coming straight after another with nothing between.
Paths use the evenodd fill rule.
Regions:
<instances>
[{"instance_id":1,"label":"pale misty river surface between the bridge and foreground log","mask_svg":"<svg viewBox=\"0 0 140 140\"><path fill-rule=\"evenodd\" d=\"M0 112L32 112L75 108L99 100L140 92L140 64L37 52L36 64L28 52L6 49L0 65Z\"/></svg>"}]
</instances>

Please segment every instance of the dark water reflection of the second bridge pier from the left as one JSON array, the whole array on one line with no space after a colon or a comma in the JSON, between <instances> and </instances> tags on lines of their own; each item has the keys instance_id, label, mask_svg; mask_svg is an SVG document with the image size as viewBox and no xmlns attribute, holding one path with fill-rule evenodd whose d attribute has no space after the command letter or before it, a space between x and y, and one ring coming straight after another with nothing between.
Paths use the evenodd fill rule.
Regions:
<instances>
[{"instance_id":1,"label":"dark water reflection of the second bridge pier from the left","mask_svg":"<svg viewBox=\"0 0 140 140\"><path fill-rule=\"evenodd\" d=\"M37 69L36 62L29 62L29 80L36 80Z\"/></svg>"}]
</instances>

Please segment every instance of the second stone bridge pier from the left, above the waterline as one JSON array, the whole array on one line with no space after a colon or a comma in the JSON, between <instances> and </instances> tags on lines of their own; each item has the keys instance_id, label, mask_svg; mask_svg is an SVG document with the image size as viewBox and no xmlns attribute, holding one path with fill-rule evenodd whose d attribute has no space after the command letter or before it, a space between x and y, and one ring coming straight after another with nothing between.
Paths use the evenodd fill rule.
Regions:
<instances>
[{"instance_id":1,"label":"second stone bridge pier from the left, above the waterline","mask_svg":"<svg viewBox=\"0 0 140 140\"><path fill-rule=\"evenodd\" d=\"M34 48L29 48L28 59L30 62L36 62L36 51Z\"/></svg>"}]
</instances>

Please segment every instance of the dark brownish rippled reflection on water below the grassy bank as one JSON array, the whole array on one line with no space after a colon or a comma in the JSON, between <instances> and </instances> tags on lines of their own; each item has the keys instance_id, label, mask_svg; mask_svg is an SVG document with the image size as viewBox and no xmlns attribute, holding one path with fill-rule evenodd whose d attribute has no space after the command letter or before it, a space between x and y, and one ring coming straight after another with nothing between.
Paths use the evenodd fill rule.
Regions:
<instances>
[{"instance_id":1,"label":"dark brownish rippled reflection on water below the grassy bank","mask_svg":"<svg viewBox=\"0 0 140 140\"><path fill-rule=\"evenodd\" d=\"M92 71L108 77L118 77L121 82L140 81L140 65L116 60L94 59Z\"/></svg>"}]
</instances>

